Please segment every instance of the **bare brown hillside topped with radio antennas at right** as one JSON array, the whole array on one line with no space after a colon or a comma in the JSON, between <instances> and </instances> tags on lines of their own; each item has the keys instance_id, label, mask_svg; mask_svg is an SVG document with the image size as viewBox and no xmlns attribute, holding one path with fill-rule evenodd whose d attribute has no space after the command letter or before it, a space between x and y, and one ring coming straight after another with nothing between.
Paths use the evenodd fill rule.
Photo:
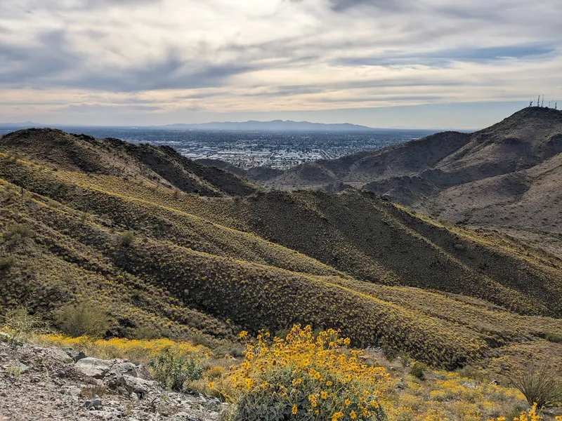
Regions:
<instances>
[{"instance_id":1,"label":"bare brown hillside topped with radio antennas at right","mask_svg":"<svg viewBox=\"0 0 562 421\"><path fill-rule=\"evenodd\" d=\"M476 133L437 133L259 181L285 189L343 182L450 222L534 234L562 256L561 153L562 112L530 107Z\"/></svg>"}]
</instances>

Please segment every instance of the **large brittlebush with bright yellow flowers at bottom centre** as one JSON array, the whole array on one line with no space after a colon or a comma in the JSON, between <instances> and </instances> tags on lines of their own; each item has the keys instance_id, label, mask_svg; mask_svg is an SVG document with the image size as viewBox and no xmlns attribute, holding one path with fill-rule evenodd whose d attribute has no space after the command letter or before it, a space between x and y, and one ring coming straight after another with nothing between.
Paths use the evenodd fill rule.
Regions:
<instances>
[{"instance_id":1,"label":"large brittlebush with bright yellow flowers at bottom centre","mask_svg":"<svg viewBox=\"0 0 562 421\"><path fill-rule=\"evenodd\" d=\"M258 335L225 377L236 391L226 420L386 420L379 396L388 373L347 345L336 330L315 338L310 327L294 326L285 340Z\"/></svg>"}]
</instances>

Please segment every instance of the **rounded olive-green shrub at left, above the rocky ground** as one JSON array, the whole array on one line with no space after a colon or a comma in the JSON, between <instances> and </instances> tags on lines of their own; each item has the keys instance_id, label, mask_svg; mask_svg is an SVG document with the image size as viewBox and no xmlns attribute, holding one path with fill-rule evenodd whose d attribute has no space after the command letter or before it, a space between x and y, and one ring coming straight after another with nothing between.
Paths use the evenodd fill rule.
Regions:
<instances>
[{"instance_id":1,"label":"rounded olive-green shrub at left, above the rocky ground","mask_svg":"<svg viewBox=\"0 0 562 421\"><path fill-rule=\"evenodd\" d=\"M111 327L105 309L89 302L61 307L55 314L55 325L74 338L84 335L101 338Z\"/></svg>"}]
</instances>

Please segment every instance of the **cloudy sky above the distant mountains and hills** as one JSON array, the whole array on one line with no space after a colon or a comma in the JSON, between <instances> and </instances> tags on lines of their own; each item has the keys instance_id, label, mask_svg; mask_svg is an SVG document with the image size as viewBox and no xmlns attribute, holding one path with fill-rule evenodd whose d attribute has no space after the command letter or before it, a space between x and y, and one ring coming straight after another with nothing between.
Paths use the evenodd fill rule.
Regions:
<instances>
[{"instance_id":1,"label":"cloudy sky above the distant mountains and hills","mask_svg":"<svg viewBox=\"0 0 562 421\"><path fill-rule=\"evenodd\" d=\"M0 0L0 122L473 129L562 108L560 0Z\"/></svg>"}]
</instances>

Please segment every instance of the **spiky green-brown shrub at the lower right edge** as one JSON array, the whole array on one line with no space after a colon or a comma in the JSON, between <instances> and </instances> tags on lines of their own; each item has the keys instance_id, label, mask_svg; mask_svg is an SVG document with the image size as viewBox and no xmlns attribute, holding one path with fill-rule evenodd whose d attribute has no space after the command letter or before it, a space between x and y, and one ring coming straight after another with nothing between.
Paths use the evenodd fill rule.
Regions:
<instances>
[{"instance_id":1,"label":"spiky green-brown shrub at the lower right edge","mask_svg":"<svg viewBox=\"0 0 562 421\"><path fill-rule=\"evenodd\" d=\"M551 368L542 364L538 368L529 366L509 378L510 382L527 399L529 405L536 403L539 408L554 406L562 401L562 385L551 374Z\"/></svg>"}]
</instances>

